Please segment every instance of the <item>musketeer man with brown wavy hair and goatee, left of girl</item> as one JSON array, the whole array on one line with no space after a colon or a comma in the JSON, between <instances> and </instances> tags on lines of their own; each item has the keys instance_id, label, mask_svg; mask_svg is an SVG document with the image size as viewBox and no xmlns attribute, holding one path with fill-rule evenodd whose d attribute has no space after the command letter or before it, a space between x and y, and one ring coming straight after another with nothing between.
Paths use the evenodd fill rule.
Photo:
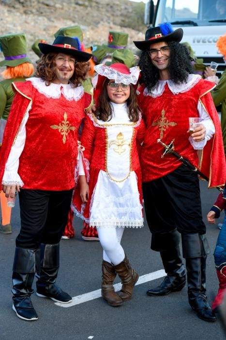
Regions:
<instances>
[{"instance_id":1,"label":"musketeer man with brown wavy hair and goatee, left of girl","mask_svg":"<svg viewBox=\"0 0 226 340\"><path fill-rule=\"evenodd\" d=\"M90 53L78 38L58 36L43 53L35 77L13 83L15 98L6 124L0 181L6 197L19 192L21 229L13 266L13 309L23 320L37 320L30 295L38 272L37 295L60 303L72 298L55 279L59 242L75 186L78 127L91 96L81 81Z\"/></svg>"}]
</instances>

